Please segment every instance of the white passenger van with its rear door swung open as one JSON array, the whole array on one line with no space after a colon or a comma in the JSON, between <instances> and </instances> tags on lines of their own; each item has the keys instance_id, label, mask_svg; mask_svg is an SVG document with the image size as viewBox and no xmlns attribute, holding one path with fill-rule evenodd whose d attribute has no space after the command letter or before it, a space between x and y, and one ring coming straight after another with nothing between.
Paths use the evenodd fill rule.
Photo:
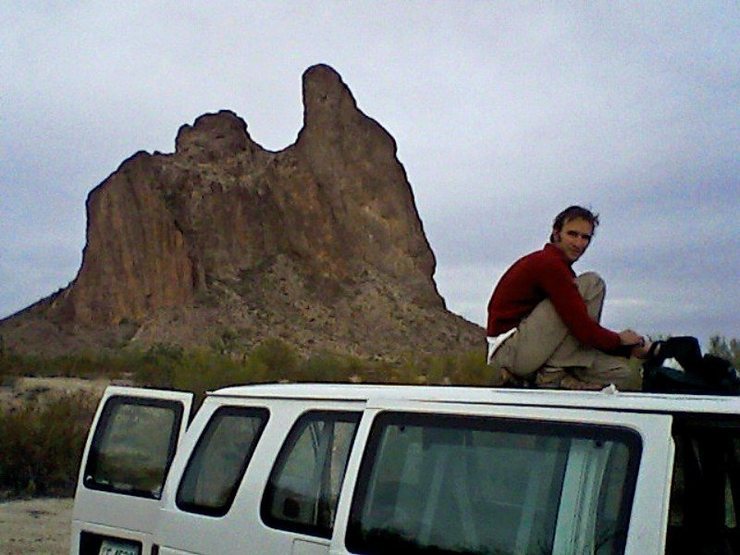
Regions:
<instances>
[{"instance_id":1,"label":"white passenger van with its rear door swung open","mask_svg":"<svg viewBox=\"0 0 740 555\"><path fill-rule=\"evenodd\" d=\"M740 554L740 397L110 387L71 555Z\"/></svg>"}]
</instances>

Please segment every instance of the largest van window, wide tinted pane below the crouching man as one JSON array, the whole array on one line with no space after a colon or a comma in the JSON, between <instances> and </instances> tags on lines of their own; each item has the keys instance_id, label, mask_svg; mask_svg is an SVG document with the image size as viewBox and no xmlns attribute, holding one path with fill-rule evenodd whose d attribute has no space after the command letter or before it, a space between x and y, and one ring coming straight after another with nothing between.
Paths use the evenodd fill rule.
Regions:
<instances>
[{"instance_id":1,"label":"largest van window, wide tinted pane below the crouching man","mask_svg":"<svg viewBox=\"0 0 740 555\"><path fill-rule=\"evenodd\" d=\"M353 553L622 553L641 454L621 428L418 413L373 423Z\"/></svg>"}]
</instances>

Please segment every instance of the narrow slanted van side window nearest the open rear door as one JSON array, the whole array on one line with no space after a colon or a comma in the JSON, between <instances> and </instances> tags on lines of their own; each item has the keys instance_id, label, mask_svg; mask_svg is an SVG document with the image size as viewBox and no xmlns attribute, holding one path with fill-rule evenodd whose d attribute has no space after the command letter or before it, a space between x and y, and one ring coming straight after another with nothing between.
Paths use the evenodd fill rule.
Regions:
<instances>
[{"instance_id":1,"label":"narrow slanted van side window nearest the open rear door","mask_svg":"<svg viewBox=\"0 0 740 555\"><path fill-rule=\"evenodd\" d=\"M180 481L175 499L180 509L210 516L228 512L268 414L248 407L213 413Z\"/></svg>"}]
</instances>

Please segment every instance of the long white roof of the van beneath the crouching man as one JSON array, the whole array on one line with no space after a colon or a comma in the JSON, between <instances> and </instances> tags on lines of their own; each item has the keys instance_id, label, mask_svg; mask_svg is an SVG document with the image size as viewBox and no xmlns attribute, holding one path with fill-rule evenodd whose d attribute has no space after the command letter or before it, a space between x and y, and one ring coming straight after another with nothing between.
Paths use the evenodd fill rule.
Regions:
<instances>
[{"instance_id":1,"label":"long white roof of the van beneath the crouching man","mask_svg":"<svg viewBox=\"0 0 740 555\"><path fill-rule=\"evenodd\" d=\"M740 396L677 395L602 391L512 389L475 386L276 383L239 385L208 393L212 397L393 400L486 405L551 406L660 413L740 414Z\"/></svg>"}]
</instances>

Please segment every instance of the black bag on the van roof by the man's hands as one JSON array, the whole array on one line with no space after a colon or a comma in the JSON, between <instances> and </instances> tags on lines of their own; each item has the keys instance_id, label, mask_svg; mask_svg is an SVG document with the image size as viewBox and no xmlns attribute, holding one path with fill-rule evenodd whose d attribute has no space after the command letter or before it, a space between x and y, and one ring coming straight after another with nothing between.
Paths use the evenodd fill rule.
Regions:
<instances>
[{"instance_id":1,"label":"black bag on the van roof by the man's hands","mask_svg":"<svg viewBox=\"0 0 740 555\"><path fill-rule=\"evenodd\" d=\"M683 370L663 366L673 358ZM740 395L740 374L730 361L702 355L695 337L671 337L655 341L642 366L642 389L651 393Z\"/></svg>"}]
</instances>

